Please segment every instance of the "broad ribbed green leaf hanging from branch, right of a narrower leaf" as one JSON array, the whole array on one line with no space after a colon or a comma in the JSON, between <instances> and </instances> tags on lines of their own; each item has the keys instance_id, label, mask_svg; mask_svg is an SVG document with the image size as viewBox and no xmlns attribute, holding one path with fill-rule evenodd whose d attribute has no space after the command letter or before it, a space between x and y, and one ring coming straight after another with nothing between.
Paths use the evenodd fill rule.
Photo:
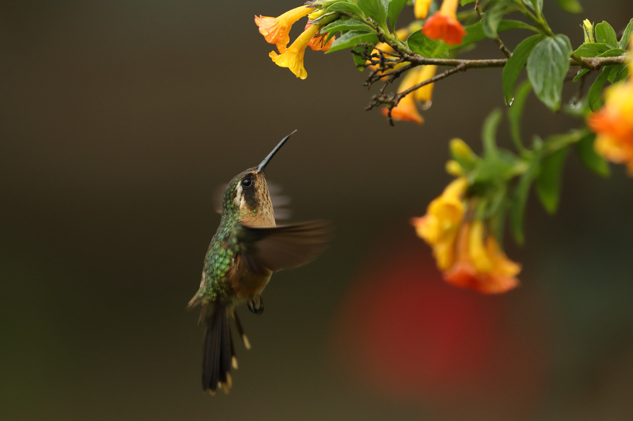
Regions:
<instances>
[{"instance_id":1,"label":"broad ribbed green leaf hanging from branch, right of a narrower leaf","mask_svg":"<svg viewBox=\"0 0 633 421\"><path fill-rule=\"evenodd\" d=\"M534 93L552 111L560 109L563 80L571 55L572 44L567 35L559 34L542 39L527 59L527 77Z\"/></svg>"}]
</instances>

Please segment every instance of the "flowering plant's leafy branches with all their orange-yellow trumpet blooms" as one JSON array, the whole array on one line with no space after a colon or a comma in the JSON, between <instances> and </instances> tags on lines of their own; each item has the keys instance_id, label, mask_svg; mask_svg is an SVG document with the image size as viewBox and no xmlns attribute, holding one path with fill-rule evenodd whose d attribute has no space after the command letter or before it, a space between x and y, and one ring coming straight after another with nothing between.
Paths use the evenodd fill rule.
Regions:
<instances>
[{"instance_id":1,"label":"flowering plant's leafy branches with all their orange-yellow trumpet blooms","mask_svg":"<svg viewBox=\"0 0 633 421\"><path fill-rule=\"evenodd\" d=\"M434 84L440 80L468 69L503 67L503 83L496 90L493 86L491 95L503 97L508 105L515 151L496 145L502 113L494 110L484 122L482 153L475 155L466 143L453 139L453 160L446 169L454 181L425 215L411 219L417 235L431 247L444 280L484 294L519 285L521 266L503 251L505 221L517 244L523 244L523 213L533 187L545 210L556 211L568 150L575 148L586 167L599 175L609 174L610 161L626 164L633 176L633 19L619 40L609 23L582 21L584 43L574 49L567 35L553 32L542 3L462 0L458 11L459 0L311 0L277 18L255 17L266 42L277 46L269 54L272 61L298 78L308 76L303 60L308 45L328 54L351 49L356 68L369 70L365 85L384 83L367 109L380 108L390 124L423 124L421 111L429 109ZM558 4L571 13L581 10L575 0ZM398 19L406 5L413 6L415 20L403 25ZM508 13L515 15L506 19ZM292 24L303 16L308 16L303 33L287 46ZM530 35L511 52L501 40L508 30L527 30ZM457 58L478 42L495 42L498 56ZM588 95L579 84L573 106L566 106L563 83L570 82L570 66L579 66L574 82L591 71L602 73ZM527 80L517 83L525 73ZM396 92L385 92L396 79ZM613 85L606 88L601 106L607 82ZM579 118L579 127L544 138L534 134L526 146L521 119L532 92L553 112Z\"/></svg>"}]
</instances>

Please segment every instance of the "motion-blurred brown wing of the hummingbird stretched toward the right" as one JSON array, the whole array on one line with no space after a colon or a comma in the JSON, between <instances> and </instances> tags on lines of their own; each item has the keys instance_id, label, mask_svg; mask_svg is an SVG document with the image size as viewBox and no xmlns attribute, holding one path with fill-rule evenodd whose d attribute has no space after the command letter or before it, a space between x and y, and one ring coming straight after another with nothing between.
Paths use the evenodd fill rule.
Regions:
<instances>
[{"instance_id":1,"label":"motion-blurred brown wing of the hummingbird stretched toward the right","mask_svg":"<svg viewBox=\"0 0 633 421\"><path fill-rule=\"evenodd\" d=\"M296 268L316 258L330 239L330 224L311 221L271 228L235 225L229 242L249 270L260 275Z\"/></svg>"}]
</instances>

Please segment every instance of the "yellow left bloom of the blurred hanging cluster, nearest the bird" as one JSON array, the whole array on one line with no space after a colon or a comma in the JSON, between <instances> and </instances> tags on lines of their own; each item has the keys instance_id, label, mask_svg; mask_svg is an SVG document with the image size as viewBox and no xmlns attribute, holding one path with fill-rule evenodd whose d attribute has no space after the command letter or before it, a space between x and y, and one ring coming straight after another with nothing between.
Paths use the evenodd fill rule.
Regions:
<instances>
[{"instance_id":1,"label":"yellow left bloom of the blurred hanging cluster, nearest the bird","mask_svg":"<svg viewBox=\"0 0 633 421\"><path fill-rule=\"evenodd\" d=\"M416 234L432 247L437 268L442 271L455 263L455 242L464 217L466 187L466 177L455 179L429 204L426 215L411 218Z\"/></svg>"}]
</instances>

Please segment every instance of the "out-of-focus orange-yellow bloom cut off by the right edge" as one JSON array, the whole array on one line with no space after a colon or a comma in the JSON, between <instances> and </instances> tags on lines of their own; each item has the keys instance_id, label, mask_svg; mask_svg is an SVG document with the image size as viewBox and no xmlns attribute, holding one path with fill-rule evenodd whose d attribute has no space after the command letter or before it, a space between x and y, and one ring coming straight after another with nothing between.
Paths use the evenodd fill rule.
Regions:
<instances>
[{"instance_id":1,"label":"out-of-focus orange-yellow bloom cut off by the right edge","mask_svg":"<svg viewBox=\"0 0 633 421\"><path fill-rule=\"evenodd\" d=\"M633 176L633 73L606 90L605 106L587 117L596 151L607 160L626 163Z\"/></svg>"}]
</instances>

